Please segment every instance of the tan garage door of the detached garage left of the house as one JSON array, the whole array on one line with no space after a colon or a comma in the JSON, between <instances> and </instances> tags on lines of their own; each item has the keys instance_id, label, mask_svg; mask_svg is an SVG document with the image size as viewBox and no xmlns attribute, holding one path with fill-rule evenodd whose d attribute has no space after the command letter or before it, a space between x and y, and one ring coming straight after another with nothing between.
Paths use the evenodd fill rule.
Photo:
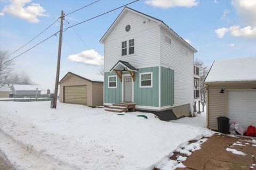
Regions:
<instances>
[{"instance_id":1,"label":"tan garage door of the detached garage left of the house","mask_svg":"<svg viewBox=\"0 0 256 170\"><path fill-rule=\"evenodd\" d=\"M65 86L64 103L87 105L87 86Z\"/></svg>"}]
</instances>

